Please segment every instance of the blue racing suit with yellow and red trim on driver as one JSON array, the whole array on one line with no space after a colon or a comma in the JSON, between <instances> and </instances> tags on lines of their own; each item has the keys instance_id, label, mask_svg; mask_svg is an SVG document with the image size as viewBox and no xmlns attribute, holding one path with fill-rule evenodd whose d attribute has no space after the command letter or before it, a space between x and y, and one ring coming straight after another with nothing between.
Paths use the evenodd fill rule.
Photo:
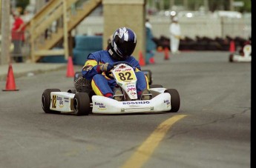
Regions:
<instances>
[{"instance_id":1,"label":"blue racing suit with yellow and red trim on driver","mask_svg":"<svg viewBox=\"0 0 256 168\"><path fill-rule=\"evenodd\" d=\"M136 68L136 87L137 94L140 97L143 90L149 89L148 78L140 71L140 64L133 56L128 57L124 61ZM99 65L105 63L114 64L115 62L116 61L111 58L110 53L108 53L108 50L100 50L88 55L85 65L82 67L82 76L91 81L91 87L96 95L104 95L105 97L113 98L113 90L114 87L116 87L116 81L108 78L105 72L99 69Z\"/></svg>"}]
</instances>

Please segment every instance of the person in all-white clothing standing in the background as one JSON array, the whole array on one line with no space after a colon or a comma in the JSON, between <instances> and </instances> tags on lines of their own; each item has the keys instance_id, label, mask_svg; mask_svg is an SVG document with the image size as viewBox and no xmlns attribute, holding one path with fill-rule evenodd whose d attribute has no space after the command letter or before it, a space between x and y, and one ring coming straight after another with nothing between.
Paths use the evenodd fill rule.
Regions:
<instances>
[{"instance_id":1,"label":"person in all-white clothing standing in the background","mask_svg":"<svg viewBox=\"0 0 256 168\"><path fill-rule=\"evenodd\" d=\"M170 38L171 53L172 54L180 53L179 46L180 46L181 30L180 30L180 24L178 22L178 18L176 16L174 16L174 18L171 21L169 31L171 33L171 38Z\"/></svg>"}]
</instances>

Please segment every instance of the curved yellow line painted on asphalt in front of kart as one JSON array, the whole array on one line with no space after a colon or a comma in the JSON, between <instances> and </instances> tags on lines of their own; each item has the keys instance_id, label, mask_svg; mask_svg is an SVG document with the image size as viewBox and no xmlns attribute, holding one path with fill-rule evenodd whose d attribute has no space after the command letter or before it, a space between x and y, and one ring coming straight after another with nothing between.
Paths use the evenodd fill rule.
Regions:
<instances>
[{"instance_id":1,"label":"curved yellow line painted on asphalt in front of kart","mask_svg":"<svg viewBox=\"0 0 256 168\"><path fill-rule=\"evenodd\" d=\"M171 118L163 121L154 132L140 145L136 152L131 155L131 158L122 165L122 168L136 168L142 167L143 164L148 160L148 158L154 152L154 149L160 144L160 141L164 138L170 127L183 117L187 115L174 115Z\"/></svg>"}]
</instances>

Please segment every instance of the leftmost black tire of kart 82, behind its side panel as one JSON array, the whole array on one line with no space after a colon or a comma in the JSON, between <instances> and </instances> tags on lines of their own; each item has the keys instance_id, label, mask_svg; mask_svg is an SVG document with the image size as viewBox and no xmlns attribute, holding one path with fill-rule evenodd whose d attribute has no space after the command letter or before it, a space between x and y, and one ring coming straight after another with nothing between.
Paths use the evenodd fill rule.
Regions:
<instances>
[{"instance_id":1,"label":"leftmost black tire of kart 82, behind its side panel","mask_svg":"<svg viewBox=\"0 0 256 168\"><path fill-rule=\"evenodd\" d=\"M47 89L42 93L42 109L45 113L57 114L58 111L50 110L50 93L51 92L60 92L59 89Z\"/></svg>"}]
</instances>

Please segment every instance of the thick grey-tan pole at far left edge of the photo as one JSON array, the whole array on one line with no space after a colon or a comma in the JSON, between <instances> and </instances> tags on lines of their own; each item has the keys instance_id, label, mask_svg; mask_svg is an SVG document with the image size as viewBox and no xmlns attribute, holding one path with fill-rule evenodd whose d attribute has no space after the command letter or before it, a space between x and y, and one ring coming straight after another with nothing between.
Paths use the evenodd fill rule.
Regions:
<instances>
[{"instance_id":1,"label":"thick grey-tan pole at far left edge of the photo","mask_svg":"<svg viewBox=\"0 0 256 168\"><path fill-rule=\"evenodd\" d=\"M10 1L1 0L1 59L0 64L10 63Z\"/></svg>"}]
</instances>

